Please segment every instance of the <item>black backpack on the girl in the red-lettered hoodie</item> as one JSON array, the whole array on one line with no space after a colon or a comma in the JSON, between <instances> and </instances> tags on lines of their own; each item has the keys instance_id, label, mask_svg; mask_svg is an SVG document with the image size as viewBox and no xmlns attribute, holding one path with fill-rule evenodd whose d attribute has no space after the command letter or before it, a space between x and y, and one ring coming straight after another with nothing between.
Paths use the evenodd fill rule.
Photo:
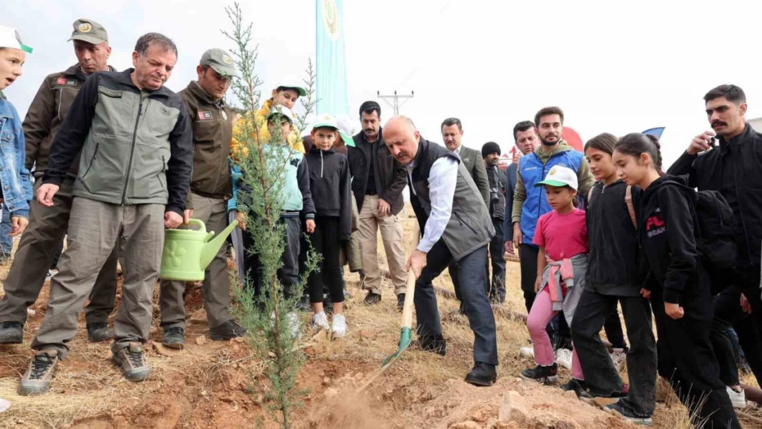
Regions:
<instances>
[{"instance_id":1,"label":"black backpack on the girl in the red-lettered hoodie","mask_svg":"<svg viewBox=\"0 0 762 429\"><path fill-rule=\"evenodd\" d=\"M716 190L700 190L696 196L696 222L700 238L696 247L703 255L704 264L708 264L710 270L734 267L738 245L733 233L733 210Z\"/></svg>"}]
</instances>

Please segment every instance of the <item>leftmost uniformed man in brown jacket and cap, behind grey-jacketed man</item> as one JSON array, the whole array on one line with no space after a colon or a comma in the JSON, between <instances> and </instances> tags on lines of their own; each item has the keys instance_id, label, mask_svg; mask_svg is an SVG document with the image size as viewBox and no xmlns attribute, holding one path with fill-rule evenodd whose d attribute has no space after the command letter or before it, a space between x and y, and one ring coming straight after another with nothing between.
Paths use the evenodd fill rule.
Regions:
<instances>
[{"instance_id":1,"label":"leftmost uniformed man in brown jacket and cap, behind grey-jacketed man","mask_svg":"<svg viewBox=\"0 0 762 429\"><path fill-rule=\"evenodd\" d=\"M24 119L25 166L27 169L35 166L34 177L38 179L35 191L42 184L39 179L48 167L53 138L85 80L95 72L114 71L107 65L111 47L106 29L85 18L74 21L73 25L74 31L69 40L74 42L78 63L45 78ZM78 166L77 162L72 163L69 171L62 176L52 207L43 206L34 199L30 202L29 227L27 233L21 235L11 271L3 284L5 296L0 299L0 344L21 344L24 340L27 307L34 304L40 295L48 267L53 261L53 252L66 234ZM107 322L114 310L116 293L115 250L103 264L90 294L90 303L85 308L90 341L105 341L113 336Z\"/></svg>"}]
</instances>

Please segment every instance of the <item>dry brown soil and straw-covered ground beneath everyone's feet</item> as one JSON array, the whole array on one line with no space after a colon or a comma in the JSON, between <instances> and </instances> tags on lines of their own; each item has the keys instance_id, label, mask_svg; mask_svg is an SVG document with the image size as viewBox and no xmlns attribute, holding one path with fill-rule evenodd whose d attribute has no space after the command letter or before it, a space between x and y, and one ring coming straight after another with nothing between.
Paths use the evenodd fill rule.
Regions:
<instances>
[{"instance_id":1,"label":"dry brown soil and straw-covered ground beneath everyone's feet","mask_svg":"<svg viewBox=\"0 0 762 429\"><path fill-rule=\"evenodd\" d=\"M411 210L408 210L411 213ZM405 219L409 239L415 219ZM383 264L383 249L379 249ZM5 279L10 264L0 267ZM518 264L507 264L508 299L505 306L523 312L518 284ZM309 315L303 315L306 330L306 366L298 383L306 390L303 407L296 411L295 427L309 428L555 428L607 429L630 427L593 405L569 399L557 386L539 386L517 379L533 361L521 357L519 347L529 336L522 322L496 315L501 365L498 383L476 388L463 382L472 366L473 335L467 319L457 313L456 302L440 298L447 357L439 357L411 347L401 359L367 389L363 395L353 390L378 369L384 358L396 350L400 313L388 280L384 280L383 301L378 306L362 306L364 293L357 274L347 273L352 297L347 300L349 334L330 341L325 336L311 338L307 332ZM435 286L452 290L447 273ZM158 294L158 290L156 291ZM2 293L2 287L0 287ZM261 374L261 364L239 341L210 341L200 287L188 287L185 303L188 315L187 348L166 357L147 344L149 364L154 373L144 383L130 383L111 366L109 344L87 341L84 318L81 330L71 343L72 354L59 365L52 391L40 397L16 395L18 379L30 357L30 341L42 322L48 286L31 307L25 326L24 344L0 346L0 398L11 408L0 413L0 428L75 429L233 429L277 427L265 411L260 383L250 375ZM158 305L154 306L151 340L160 342ZM623 370L624 371L624 370ZM623 372L623 376L626 373ZM562 381L569 373L562 370ZM261 379L261 377L260 377ZM754 385L753 377L744 383ZM524 424L498 421L503 395L517 391L525 399L530 419ZM685 408L660 389L654 426L659 429L690 427ZM762 418L756 408L745 410ZM742 420L744 427L759 427Z\"/></svg>"}]
</instances>

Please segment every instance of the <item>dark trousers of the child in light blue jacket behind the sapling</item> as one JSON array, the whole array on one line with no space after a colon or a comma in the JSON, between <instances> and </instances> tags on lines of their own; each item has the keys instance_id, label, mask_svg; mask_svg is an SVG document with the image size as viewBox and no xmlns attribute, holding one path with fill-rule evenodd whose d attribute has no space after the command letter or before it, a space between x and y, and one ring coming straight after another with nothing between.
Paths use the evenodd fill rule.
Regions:
<instances>
[{"instance_id":1,"label":"dark trousers of the child in light blue jacket behind the sapling","mask_svg":"<svg viewBox=\"0 0 762 429\"><path fill-rule=\"evenodd\" d=\"M298 217L281 217L280 223L286 225L286 248L280 260L283 265L277 271L277 278L283 285L283 296L289 299L295 291L296 283L299 283L299 235L301 226ZM243 246L245 249L254 248L254 237L250 232L243 232ZM255 297L262 295L262 265L259 255L246 251L244 259L244 273L248 276L247 287L254 287Z\"/></svg>"}]
</instances>

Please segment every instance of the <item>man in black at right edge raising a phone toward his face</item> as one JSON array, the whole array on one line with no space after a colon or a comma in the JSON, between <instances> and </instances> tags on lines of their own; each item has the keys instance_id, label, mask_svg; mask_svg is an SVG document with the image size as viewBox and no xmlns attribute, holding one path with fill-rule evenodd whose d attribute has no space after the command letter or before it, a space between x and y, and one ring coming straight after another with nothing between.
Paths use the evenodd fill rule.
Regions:
<instances>
[{"instance_id":1,"label":"man in black at right edge raising a phone toward his face","mask_svg":"<svg viewBox=\"0 0 762 429\"><path fill-rule=\"evenodd\" d=\"M762 133L746 122L746 94L737 85L719 85L704 95L706 117L712 130L693 138L688 149L669 168L669 174L688 174L689 186L716 190L733 210L733 234L738 247L735 267L719 271L709 266L712 291L722 293L715 301L712 344L718 351L720 379L737 407L744 405L738 368L727 331L734 325L749 365L757 379L762 376ZM719 147L716 141L719 140ZM713 272L712 272L713 271ZM742 309L743 307L743 309ZM751 312L751 319L745 319ZM752 330L753 326L753 330ZM756 334L756 335L754 335ZM754 338L756 336L756 338ZM724 344L724 346L723 346ZM738 405L737 405L738 404Z\"/></svg>"}]
</instances>

